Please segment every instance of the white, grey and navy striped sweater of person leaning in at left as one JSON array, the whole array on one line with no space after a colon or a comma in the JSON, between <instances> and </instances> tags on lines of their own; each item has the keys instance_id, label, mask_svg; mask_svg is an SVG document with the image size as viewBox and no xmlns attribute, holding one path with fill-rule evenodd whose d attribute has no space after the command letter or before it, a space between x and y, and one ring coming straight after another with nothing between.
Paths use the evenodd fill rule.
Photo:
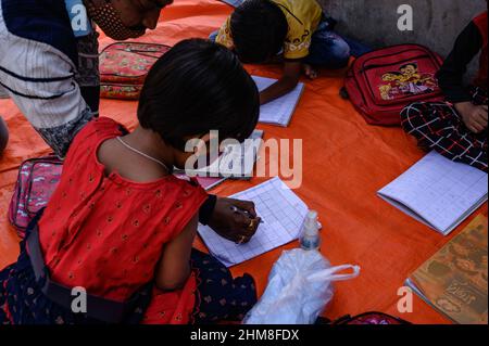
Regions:
<instances>
[{"instance_id":1,"label":"white, grey and navy striped sweater of person leaning in at left","mask_svg":"<svg viewBox=\"0 0 489 346\"><path fill-rule=\"evenodd\" d=\"M48 7L54 2L38 0L35 3ZM78 56L68 56L68 49L62 52L55 48L70 42L70 37L58 40L55 43L59 44L33 39L26 30L32 27L33 37L36 35L35 30L40 30L35 23L37 18L20 17L22 8L28 7L29 1L16 0L14 5L16 8L13 8L12 0L0 0L0 87L14 100L53 151L64 157L72 139L93 117L76 78L85 75L78 73ZM24 12L29 13L26 9ZM49 12L45 17L42 14L39 17L39 21L45 21L42 30L46 30L46 21L50 21ZM14 25L16 23L21 24ZM60 30L57 25L59 23L53 23L53 33ZM17 27L22 33L13 31ZM57 38L52 33L45 33L42 37L53 37L53 40ZM76 52L77 42L72 43L73 51ZM97 50L97 46L95 47Z\"/></svg>"}]
</instances>

